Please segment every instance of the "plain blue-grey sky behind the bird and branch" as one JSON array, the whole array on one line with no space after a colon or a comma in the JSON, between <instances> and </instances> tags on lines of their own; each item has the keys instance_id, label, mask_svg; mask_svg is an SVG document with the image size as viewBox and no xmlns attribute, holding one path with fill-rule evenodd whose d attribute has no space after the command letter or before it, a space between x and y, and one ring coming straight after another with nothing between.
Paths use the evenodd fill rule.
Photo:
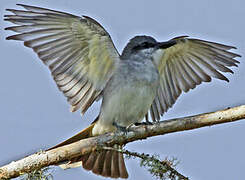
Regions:
<instances>
[{"instance_id":1,"label":"plain blue-grey sky behind the bird and branch","mask_svg":"<svg viewBox=\"0 0 245 180\"><path fill-rule=\"evenodd\" d=\"M165 41L179 35L236 46L243 57L230 82L213 80L182 94L161 120L245 104L245 1L244 0L123 0L123 1L0 1L0 166L40 149L47 149L87 127L99 112L99 103L81 117L70 113L48 68L20 42L6 41L11 26L3 21L6 8L16 3L87 15L100 22L122 51L135 35ZM136 141L129 150L180 160L177 170L195 180L242 180L245 167L245 121L172 133ZM136 159L126 160L129 179L152 179ZM54 180L105 179L81 168L56 168Z\"/></svg>"}]
</instances>

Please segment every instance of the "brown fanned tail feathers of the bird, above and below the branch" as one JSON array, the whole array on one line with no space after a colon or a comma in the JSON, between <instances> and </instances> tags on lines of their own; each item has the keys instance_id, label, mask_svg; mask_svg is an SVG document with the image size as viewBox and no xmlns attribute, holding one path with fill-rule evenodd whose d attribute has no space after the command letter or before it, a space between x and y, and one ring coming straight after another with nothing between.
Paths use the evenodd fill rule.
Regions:
<instances>
[{"instance_id":1,"label":"brown fanned tail feathers of the bird, above and below the branch","mask_svg":"<svg viewBox=\"0 0 245 180\"><path fill-rule=\"evenodd\" d=\"M48 149L54 149L73 142L86 139L92 136L94 124L82 130L68 140ZM83 166L84 169L92 171L95 174L111 178L128 178L128 172L124 163L123 154L113 150L92 151L83 156L73 158L69 163L60 165L61 168L74 168Z\"/></svg>"}]
</instances>

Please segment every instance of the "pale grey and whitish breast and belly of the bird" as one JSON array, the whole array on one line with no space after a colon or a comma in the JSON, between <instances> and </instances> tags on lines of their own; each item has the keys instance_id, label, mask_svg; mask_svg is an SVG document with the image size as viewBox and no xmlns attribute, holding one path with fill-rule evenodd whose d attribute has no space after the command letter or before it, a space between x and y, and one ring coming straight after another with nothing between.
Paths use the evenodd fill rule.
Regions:
<instances>
[{"instance_id":1,"label":"pale grey and whitish breast and belly of the bird","mask_svg":"<svg viewBox=\"0 0 245 180\"><path fill-rule=\"evenodd\" d=\"M140 122L156 96L158 83L153 65L123 65L118 69L104 89L97 134L112 131L113 123L126 127Z\"/></svg>"}]
</instances>

